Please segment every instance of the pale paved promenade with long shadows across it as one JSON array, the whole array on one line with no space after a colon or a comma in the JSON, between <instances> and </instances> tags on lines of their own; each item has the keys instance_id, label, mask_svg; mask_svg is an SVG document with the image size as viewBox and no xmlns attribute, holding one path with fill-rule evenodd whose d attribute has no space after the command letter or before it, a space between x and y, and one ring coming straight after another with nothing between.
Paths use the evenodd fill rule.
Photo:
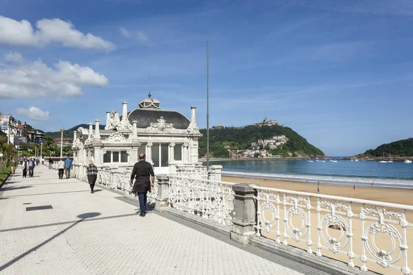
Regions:
<instances>
[{"instance_id":1,"label":"pale paved promenade with long shadows across it","mask_svg":"<svg viewBox=\"0 0 413 275\"><path fill-rule=\"evenodd\" d=\"M17 173L0 190L0 274L302 274L45 166Z\"/></svg>"}]
</instances>

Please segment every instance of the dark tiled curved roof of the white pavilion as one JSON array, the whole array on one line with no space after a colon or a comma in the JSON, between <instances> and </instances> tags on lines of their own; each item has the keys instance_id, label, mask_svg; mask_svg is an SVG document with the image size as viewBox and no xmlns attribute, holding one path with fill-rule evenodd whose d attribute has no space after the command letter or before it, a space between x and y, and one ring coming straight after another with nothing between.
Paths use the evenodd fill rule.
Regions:
<instances>
[{"instance_id":1,"label":"dark tiled curved roof of the white pavilion","mask_svg":"<svg viewBox=\"0 0 413 275\"><path fill-rule=\"evenodd\" d=\"M176 111L165 111L158 109L134 109L128 113L129 122L136 120L138 128L147 128L153 123L157 123L160 117L163 117L167 123L172 123L175 129L187 129L190 121Z\"/></svg>"}]
</instances>

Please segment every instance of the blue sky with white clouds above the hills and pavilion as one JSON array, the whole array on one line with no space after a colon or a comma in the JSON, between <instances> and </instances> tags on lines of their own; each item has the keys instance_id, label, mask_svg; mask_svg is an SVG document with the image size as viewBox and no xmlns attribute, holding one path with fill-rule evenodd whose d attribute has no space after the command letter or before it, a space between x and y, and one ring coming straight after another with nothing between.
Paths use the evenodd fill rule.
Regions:
<instances>
[{"instance_id":1,"label":"blue sky with white clouds above the hills and pavilion","mask_svg":"<svg viewBox=\"0 0 413 275\"><path fill-rule=\"evenodd\" d=\"M352 155L412 137L412 23L412 1L2 0L0 110L105 123L150 73L161 107L195 105L204 128L209 41L211 126L267 117Z\"/></svg>"}]
</instances>

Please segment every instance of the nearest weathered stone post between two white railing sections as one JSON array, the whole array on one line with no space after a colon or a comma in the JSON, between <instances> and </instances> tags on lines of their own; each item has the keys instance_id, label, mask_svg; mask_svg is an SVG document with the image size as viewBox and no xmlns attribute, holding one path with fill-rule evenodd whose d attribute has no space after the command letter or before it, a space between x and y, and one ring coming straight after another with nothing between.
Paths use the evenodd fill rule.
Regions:
<instances>
[{"instance_id":1,"label":"nearest weathered stone post between two white railing sections","mask_svg":"<svg viewBox=\"0 0 413 275\"><path fill-rule=\"evenodd\" d=\"M232 189L235 192L235 219L232 221L231 240L247 244L250 236L256 233L254 188L249 184L234 184Z\"/></svg>"}]
</instances>

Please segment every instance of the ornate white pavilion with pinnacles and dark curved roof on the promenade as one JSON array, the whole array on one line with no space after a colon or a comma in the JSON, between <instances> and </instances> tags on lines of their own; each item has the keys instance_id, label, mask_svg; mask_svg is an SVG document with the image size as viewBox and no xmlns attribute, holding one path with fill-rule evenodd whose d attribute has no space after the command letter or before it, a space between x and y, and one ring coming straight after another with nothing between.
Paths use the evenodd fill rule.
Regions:
<instances>
[{"instance_id":1,"label":"ornate white pavilion with pinnacles and dark curved roof on the promenade","mask_svg":"<svg viewBox=\"0 0 413 275\"><path fill-rule=\"evenodd\" d=\"M138 154L145 153L156 174L176 173L178 166L198 163L198 139L201 133L195 121L195 107L191 120L176 111L160 109L160 102L142 100L138 109L128 113L123 102L122 116L116 111L106 112L106 126L74 131L74 173L85 179L90 159L100 169L129 170L138 162Z\"/></svg>"}]
</instances>

